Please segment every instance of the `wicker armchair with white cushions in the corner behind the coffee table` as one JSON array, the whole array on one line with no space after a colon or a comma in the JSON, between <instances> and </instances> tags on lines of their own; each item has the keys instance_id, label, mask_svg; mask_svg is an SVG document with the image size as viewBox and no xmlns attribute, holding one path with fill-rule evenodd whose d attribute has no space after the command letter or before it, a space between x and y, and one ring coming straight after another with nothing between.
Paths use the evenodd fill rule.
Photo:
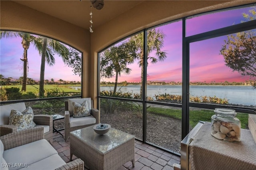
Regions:
<instances>
[{"instance_id":1,"label":"wicker armchair with white cushions in the corner behind the coffee table","mask_svg":"<svg viewBox=\"0 0 256 170\"><path fill-rule=\"evenodd\" d=\"M85 100L88 103L91 116L82 117L82 118L73 118L72 102L82 104ZM87 122L86 119L90 119L90 121ZM94 121L92 121L92 119L94 119ZM79 121L79 120L81 120L81 122L76 123L76 124L79 124L78 126L74 126L74 124L72 124L73 121ZM70 132L81 129L81 128L89 127L92 125L96 125L98 123L100 123L100 113L98 109L93 109L93 101L91 98L68 99L68 101L65 102L65 140L66 141L69 138Z\"/></svg>"}]
</instances>

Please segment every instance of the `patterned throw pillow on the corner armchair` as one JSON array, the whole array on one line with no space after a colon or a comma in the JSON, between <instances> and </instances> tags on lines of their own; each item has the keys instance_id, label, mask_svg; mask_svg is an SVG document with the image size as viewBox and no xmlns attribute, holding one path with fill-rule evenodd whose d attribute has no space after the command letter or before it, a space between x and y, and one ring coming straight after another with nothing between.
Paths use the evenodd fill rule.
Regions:
<instances>
[{"instance_id":1,"label":"patterned throw pillow on the corner armchair","mask_svg":"<svg viewBox=\"0 0 256 170\"><path fill-rule=\"evenodd\" d=\"M74 118L90 116L90 111L88 108L87 101L84 101L82 105L76 102L73 102L72 104L74 109L74 115L73 115Z\"/></svg>"}]
</instances>

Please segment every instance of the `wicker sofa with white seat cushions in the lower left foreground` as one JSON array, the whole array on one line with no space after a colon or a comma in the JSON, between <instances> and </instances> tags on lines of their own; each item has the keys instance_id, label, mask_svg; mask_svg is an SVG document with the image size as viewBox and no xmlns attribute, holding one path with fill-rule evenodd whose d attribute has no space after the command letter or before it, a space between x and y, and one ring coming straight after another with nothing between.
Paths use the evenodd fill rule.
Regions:
<instances>
[{"instance_id":1,"label":"wicker sofa with white seat cushions in the lower left foreground","mask_svg":"<svg viewBox=\"0 0 256 170\"><path fill-rule=\"evenodd\" d=\"M43 127L12 132L0 138L1 170L84 170L81 159L68 163L62 160L44 139Z\"/></svg>"}]
</instances>

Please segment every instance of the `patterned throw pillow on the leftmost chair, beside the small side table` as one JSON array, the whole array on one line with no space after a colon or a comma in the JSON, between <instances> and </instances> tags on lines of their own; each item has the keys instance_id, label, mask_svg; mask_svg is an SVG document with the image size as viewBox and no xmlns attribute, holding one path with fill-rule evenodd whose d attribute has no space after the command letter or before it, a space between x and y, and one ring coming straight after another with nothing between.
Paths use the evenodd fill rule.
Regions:
<instances>
[{"instance_id":1,"label":"patterned throw pillow on the leftmost chair, beside the small side table","mask_svg":"<svg viewBox=\"0 0 256 170\"><path fill-rule=\"evenodd\" d=\"M32 128L36 126L33 119L34 113L31 107L28 107L22 113L20 111L11 110L9 125L16 126L17 130Z\"/></svg>"}]
</instances>

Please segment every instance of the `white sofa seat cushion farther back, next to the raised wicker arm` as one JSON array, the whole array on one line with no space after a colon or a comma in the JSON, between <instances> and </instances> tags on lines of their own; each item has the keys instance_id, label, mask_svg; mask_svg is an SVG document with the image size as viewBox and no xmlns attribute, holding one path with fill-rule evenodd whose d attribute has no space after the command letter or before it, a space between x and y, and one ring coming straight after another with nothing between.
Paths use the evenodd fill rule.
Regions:
<instances>
[{"instance_id":1,"label":"white sofa seat cushion farther back, next to the raised wicker arm","mask_svg":"<svg viewBox=\"0 0 256 170\"><path fill-rule=\"evenodd\" d=\"M28 165L48 158L58 152L45 139L24 144L4 151L3 157L7 163L27 163ZM17 170L20 167L9 167L9 170Z\"/></svg>"}]
</instances>

